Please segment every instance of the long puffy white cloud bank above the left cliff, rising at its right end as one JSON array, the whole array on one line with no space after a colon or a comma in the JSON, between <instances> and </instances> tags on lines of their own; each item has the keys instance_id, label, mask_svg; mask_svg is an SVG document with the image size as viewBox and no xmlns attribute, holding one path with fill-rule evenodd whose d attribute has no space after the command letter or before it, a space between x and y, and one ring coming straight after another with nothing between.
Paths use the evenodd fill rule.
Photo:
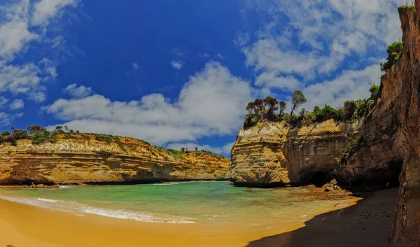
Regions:
<instances>
[{"instance_id":1,"label":"long puffy white cloud bank above the left cliff, rising at its right end","mask_svg":"<svg viewBox=\"0 0 420 247\"><path fill-rule=\"evenodd\" d=\"M58 99L44 109L73 129L134 136L162 145L235 133L241 127L251 91L245 80L233 76L220 63L209 62L190 76L173 103L162 94L129 102L95 94Z\"/></svg>"}]
</instances>

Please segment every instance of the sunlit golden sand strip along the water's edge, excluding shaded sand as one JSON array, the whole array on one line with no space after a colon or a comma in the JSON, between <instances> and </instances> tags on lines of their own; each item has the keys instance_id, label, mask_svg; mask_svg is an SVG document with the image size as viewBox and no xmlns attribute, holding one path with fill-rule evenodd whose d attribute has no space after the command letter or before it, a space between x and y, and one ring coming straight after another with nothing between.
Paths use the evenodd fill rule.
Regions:
<instances>
[{"instance_id":1,"label":"sunlit golden sand strip along the water's edge, excluding shaded sand","mask_svg":"<svg viewBox=\"0 0 420 247\"><path fill-rule=\"evenodd\" d=\"M356 204L357 197L346 204ZM339 208L342 209L342 208ZM339 210L338 209L338 210ZM337 205L309 215L337 210ZM0 199L0 246L246 246L256 239L304 227L269 229L241 225L144 223L87 213L85 216Z\"/></svg>"}]
</instances>

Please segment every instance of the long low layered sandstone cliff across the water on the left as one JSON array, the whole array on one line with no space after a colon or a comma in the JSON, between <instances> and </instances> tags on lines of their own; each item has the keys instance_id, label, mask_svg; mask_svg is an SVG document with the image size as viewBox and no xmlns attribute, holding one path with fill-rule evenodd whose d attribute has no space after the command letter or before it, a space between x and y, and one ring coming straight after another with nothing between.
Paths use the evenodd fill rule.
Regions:
<instances>
[{"instance_id":1,"label":"long low layered sandstone cliff across the water on the left","mask_svg":"<svg viewBox=\"0 0 420 247\"><path fill-rule=\"evenodd\" d=\"M0 145L0 184L142 183L150 181L222 180L229 178L228 159L202 152L179 153L144 141L120 137L127 150L94 136L59 136L57 143Z\"/></svg>"}]
</instances>

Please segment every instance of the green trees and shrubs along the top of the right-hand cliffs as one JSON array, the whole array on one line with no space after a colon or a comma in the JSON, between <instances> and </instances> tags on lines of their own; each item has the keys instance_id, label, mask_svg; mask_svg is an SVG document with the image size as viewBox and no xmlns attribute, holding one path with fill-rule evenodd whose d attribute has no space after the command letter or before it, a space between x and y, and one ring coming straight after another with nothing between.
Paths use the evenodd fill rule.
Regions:
<instances>
[{"instance_id":1,"label":"green trees and shrubs along the top of the right-hand cliffs","mask_svg":"<svg viewBox=\"0 0 420 247\"><path fill-rule=\"evenodd\" d=\"M400 6L400 8L413 8L414 6ZM381 63L381 71L387 71L402 57L402 43L394 42L388 45L386 52L388 54L387 62ZM384 79L385 74L381 76L381 81ZM372 111L377 99L381 97L383 88L380 85L374 85L371 80L367 80L370 85L370 97L366 99L349 100L345 101L344 105L338 108L332 108L325 105L323 108L318 106L314 107L313 111L307 111L302 108L296 115L295 110L300 108L307 99L300 90L295 90L291 99L291 111L285 113L286 102L278 101L273 97L266 97L265 99L255 99L246 106L248 113L244 119L244 129L248 129L257 125L259 122L281 122L285 121L286 125L292 127L302 127L302 125L309 125L314 122L323 122L325 120L334 119L338 122L356 122L362 118L366 118Z\"/></svg>"}]
</instances>

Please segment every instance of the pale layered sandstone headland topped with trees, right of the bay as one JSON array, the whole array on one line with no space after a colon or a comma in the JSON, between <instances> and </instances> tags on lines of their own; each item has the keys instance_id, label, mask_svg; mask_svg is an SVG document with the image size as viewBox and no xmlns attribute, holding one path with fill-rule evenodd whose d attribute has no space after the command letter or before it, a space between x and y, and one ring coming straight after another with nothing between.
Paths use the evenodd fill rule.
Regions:
<instances>
[{"instance_id":1,"label":"pale layered sandstone headland topped with trees, right of the bay","mask_svg":"<svg viewBox=\"0 0 420 247\"><path fill-rule=\"evenodd\" d=\"M342 148L358 128L328 120L301 128L263 122L241 129L231 152L230 178L257 187L322 183L339 168Z\"/></svg>"}]
</instances>

